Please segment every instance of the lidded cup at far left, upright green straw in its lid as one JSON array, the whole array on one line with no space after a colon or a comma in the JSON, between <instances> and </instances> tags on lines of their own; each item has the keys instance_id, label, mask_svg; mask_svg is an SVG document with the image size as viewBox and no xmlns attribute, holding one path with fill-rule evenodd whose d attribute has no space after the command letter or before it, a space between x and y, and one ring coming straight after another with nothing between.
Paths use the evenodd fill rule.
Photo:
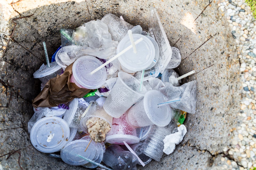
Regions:
<instances>
[{"instance_id":1,"label":"lidded cup at far left, upright green straw in its lid","mask_svg":"<svg viewBox=\"0 0 256 170\"><path fill-rule=\"evenodd\" d=\"M43 84L46 84L51 78L62 73L63 69L55 61L50 63L50 67L42 65L34 74L34 78L39 78Z\"/></svg>"}]
</instances>

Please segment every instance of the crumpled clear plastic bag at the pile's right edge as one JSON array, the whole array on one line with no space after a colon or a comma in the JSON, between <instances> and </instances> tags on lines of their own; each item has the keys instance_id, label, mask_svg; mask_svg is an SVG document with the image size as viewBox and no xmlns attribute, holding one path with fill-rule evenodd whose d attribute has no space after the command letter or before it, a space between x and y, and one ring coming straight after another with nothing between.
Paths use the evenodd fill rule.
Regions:
<instances>
[{"instance_id":1,"label":"crumpled clear plastic bag at the pile's right edge","mask_svg":"<svg viewBox=\"0 0 256 170\"><path fill-rule=\"evenodd\" d=\"M179 101L169 103L170 107L180 109L187 113L195 113L197 101L196 80L175 87L169 82L162 82L157 78L149 78L149 84L153 90L158 90L165 96L165 101L179 99Z\"/></svg>"}]
</instances>

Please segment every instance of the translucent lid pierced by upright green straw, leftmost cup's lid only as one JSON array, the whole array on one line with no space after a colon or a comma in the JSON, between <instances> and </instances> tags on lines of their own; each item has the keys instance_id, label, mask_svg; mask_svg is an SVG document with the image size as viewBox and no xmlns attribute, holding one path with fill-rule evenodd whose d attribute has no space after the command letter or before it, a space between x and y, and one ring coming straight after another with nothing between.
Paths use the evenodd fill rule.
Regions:
<instances>
[{"instance_id":1,"label":"translucent lid pierced by upright green straw, leftmost cup's lid only","mask_svg":"<svg viewBox=\"0 0 256 170\"><path fill-rule=\"evenodd\" d=\"M50 67L48 67L47 65L42 65L34 74L34 78L41 78L41 77L45 77L47 75L50 75L56 71L58 71L59 69L61 69L62 67L59 66L55 61L50 63Z\"/></svg>"}]
</instances>

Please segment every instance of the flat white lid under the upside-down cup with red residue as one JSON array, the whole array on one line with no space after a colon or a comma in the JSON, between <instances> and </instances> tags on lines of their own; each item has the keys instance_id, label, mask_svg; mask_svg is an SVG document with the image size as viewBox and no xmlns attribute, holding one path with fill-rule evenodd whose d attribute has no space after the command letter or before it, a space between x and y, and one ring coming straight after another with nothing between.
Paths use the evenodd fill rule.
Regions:
<instances>
[{"instance_id":1,"label":"flat white lid under the upside-down cup with red residue","mask_svg":"<svg viewBox=\"0 0 256 170\"><path fill-rule=\"evenodd\" d=\"M106 142L110 144L117 144L117 145L125 145L123 141L125 141L127 144L135 144L139 142L139 138L132 135L109 135L106 137Z\"/></svg>"}]
</instances>

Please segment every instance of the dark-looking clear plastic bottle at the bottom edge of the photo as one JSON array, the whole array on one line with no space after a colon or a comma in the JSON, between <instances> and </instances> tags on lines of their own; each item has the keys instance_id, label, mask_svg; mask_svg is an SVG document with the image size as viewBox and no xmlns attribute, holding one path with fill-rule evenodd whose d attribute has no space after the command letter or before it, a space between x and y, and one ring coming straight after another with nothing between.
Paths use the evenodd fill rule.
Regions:
<instances>
[{"instance_id":1,"label":"dark-looking clear plastic bottle at the bottom edge of the photo","mask_svg":"<svg viewBox=\"0 0 256 170\"><path fill-rule=\"evenodd\" d=\"M138 159L119 145L110 145L106 148L102 160L113 170L137 170Z\"/></svg>"}]
</instances>

